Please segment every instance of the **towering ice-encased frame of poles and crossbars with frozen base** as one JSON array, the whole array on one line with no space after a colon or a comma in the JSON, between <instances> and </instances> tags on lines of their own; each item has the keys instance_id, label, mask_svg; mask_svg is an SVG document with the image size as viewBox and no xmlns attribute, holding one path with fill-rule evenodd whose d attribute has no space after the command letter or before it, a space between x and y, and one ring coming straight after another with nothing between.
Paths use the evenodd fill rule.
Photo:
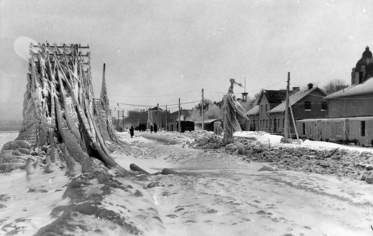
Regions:
<instances>
[{"instance_id":1,"label":"towering ice-encased frame of poles and crossbars with frozen base","mask_svg":"<svg viewBox=\"0 0 373 236\"><path fill-rule=\"evenodd\" d=\"M89 47L78 44L31 44L30 47L38 53L30 50L22 127L17 139L4 145L0 171L23 168L25 162L46 164L43 166L46 172L54 165L63 168L63 155L71 155L78 162L95 158L107 168L120 168L105 143L106 139L122 144L106 115L104 78L100 103L95 103L90 53L82 52ZM19 153L34 158L24 160Z\"/></svg>"}]
</instances>

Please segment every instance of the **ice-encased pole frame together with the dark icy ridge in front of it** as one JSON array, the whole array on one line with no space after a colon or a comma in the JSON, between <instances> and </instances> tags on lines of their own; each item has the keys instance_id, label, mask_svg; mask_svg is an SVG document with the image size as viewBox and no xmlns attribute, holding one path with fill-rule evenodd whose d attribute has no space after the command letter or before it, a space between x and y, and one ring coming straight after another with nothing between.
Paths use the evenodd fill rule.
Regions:
<instances>
[{"instance_id":1,"label":"ice-encased pole frame together with the dark icy ridge in front of it","mask_svg":"<svg viewBox=\"0 0 373 236\"><path fill-rule=\"evenodd\" d=\"M116 204L114 196L122 201L133 192L142 195L128 180L115 178L136 178L138 173L120 167L109 149L124 154L135 149L120 141L113 130L104 76L100 100L95 102L90 53L84 52L89 47L48 43L30 47L22 127L16 140L1 149L0 173L26 171L25 181L43 175L50 179L68 176L69 183L60 190L65 190L62 199L70 200L59 203L56 199L56 204L46 208L53 221L38 223L43 226L40 229L18 227L19 221L7 217L4 224L9 227L2 230L12 234L24 230L27 235L143 235L149 227L162 228L155 218L157 212L134 223L129 219L138 214L136 210L107 207ZM48 189L45 185L34 189ZM149 208L153 207L150 203L142 201Z\"/></svg>"}]
</instances>

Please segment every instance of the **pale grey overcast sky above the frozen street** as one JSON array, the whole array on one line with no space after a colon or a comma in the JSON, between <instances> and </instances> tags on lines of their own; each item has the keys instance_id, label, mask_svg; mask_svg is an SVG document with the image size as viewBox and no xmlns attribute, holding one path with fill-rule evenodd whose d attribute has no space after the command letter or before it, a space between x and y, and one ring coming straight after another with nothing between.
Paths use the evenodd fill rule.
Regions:
<instances>
[{"instance_id":1,"label":"pale grey overcast sky above the frozen street","mask_svg":"<svg viewBox=\"0 0 373 236\"><path fill-rule=\"evenodd\" d=\"M219 101L229 78L246 77L249 96L286 88L288 72L291 87L351 83L352 67L373 49L372 12L372 0L1 0L0 120L22 119L28 62L13 47L22 36L89 44L96 96L106 63L112 108L153 107L200 100L202 88Z\"/></svg>"}]
</instances>

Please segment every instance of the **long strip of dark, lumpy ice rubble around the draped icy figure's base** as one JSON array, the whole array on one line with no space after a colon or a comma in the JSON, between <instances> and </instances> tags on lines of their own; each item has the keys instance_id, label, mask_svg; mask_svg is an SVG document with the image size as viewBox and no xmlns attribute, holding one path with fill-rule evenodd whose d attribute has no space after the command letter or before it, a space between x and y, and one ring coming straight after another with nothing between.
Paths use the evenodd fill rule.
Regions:
<instances>
[{"instance_id":1,"label":"long strip of dark, lumpy ice rubble around the draped icy figure's base","mask_svg":"<svg viewBox=\"0 0 373 236\"><path fill-rule=\"evenodd\" d=\"M195 138L195 141L190 143L189 147L213 149L214 144L222 147L222 139L211 132ZM282 170L345 176L373 183L372 153L356 154L354 151L345 149L315 150L306 147L269 148L268 145L255 141L254 137L236 138L235 142L226 145L223 151L238 155L239 152L242 153L240 149L244 149L244 155L241 156L247 162L272 162L278 166L278 169Z\"/></svg>"}]
</instances>

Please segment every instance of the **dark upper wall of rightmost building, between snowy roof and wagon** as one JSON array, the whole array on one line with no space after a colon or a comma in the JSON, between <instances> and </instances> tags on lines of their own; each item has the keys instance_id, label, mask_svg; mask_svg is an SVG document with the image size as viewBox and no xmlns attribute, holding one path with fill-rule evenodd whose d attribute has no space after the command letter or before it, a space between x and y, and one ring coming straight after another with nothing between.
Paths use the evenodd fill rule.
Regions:
<instances>
[{"instance_id":1,"label":"dark upper wall of rightmost building, between snowy roof and wagon","mask_svg":"<svg viewBox=\"0 0 373 236\"><path fill-rule=\"evenodd\" d=\"M373 93L326 99L329 117L363 117L373 115Z\"/></svg>"}]
</instances>

